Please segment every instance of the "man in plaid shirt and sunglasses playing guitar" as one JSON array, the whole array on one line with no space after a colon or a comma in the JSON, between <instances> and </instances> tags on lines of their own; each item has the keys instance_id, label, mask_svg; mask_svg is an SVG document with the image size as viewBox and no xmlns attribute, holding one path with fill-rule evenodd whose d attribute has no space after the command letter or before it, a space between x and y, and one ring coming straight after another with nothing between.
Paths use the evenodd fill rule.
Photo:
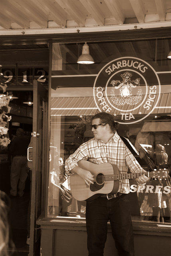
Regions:
<instances>
[{"instance_id":1,"label":"man in plaid shirt and sunglasses playing guitar","mask_svg":"<svg viewBox=\"0 0 171 256\"><path fill-rule=\"evenodd\" d=\"M86 185L93 184L94 176L88 170L79 167L83 160L94 164L110 162L118 166L120 173L141 172L137 178L138 184L145 184L149 178L145 170L138 164L130 150L118 136L118 123L113 115L100 112L92 118L94 138L83 143L65 161L65 170L77 173ZM79 162L80 161L80 162ZM128 166L128 167L127 167ZM86 229L89 256L102 256L107 237L107 222L110 220L112 236L119 256L134 256L134 239L130 215L130 184L129 180L120 180L116 194L103 194L86 202Z\"/></svg>"}]
</instances>

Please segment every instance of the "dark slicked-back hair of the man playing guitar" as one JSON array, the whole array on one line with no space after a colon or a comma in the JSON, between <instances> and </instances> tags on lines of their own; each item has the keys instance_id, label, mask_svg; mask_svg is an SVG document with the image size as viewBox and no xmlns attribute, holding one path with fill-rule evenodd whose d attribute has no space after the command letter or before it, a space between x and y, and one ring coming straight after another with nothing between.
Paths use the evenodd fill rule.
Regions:
<instances>
[{"instance_id":1,"label":"dark slicked-back hair of the man playing guitar","mask_svg":"<svg viewBox=\"0 0 171 256\"><path fill-rule=\"evenodd\" d=\"M106 112L100 112L98 114L95 114L92 117L92 120L96 118L100 118L101 124L108 124L110 126L110 129L113 132L118 129L119 124L118 122L115 121L115 118L113 115Z\"/></svg>"}]
</instances>

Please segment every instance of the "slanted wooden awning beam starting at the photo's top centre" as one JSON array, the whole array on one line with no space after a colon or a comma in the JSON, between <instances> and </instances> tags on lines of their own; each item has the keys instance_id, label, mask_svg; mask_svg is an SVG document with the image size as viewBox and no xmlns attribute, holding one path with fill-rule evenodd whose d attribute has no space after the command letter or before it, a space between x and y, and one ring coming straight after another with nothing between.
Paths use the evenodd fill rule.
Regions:
<instances>
[{"instance_id":1,"label":"slanted wooden awning beam starting at the photo's top centre","mask_svg":"<svg viewBox=\"0 0 171 256\"><path fill-rule=\"evenodd\" d=\"M95 1L92 0L79 0L85 9L92 15L92 18L97 22L98 25L104 25L104 15L98 8Z\"/></svg>"}]
</instances>

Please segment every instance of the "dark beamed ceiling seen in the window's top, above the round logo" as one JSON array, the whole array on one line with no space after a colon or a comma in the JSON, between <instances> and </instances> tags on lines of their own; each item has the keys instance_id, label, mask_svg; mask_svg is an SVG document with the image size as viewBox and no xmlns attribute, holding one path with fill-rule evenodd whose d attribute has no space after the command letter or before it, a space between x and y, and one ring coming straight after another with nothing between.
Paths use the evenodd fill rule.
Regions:
<instances>
[{"instance_id":1,"label":"dark beamed ceiling seen in the window's top, above the round logo","mask_svg":"<svg viewBox=\"0 0 171 256\"><path fill-rule=\"evenodd\" d=\"M57 47L58 46L58 47ZM54 43L53 58L62 60L63 65L52 65L52 87L54 85L82 87L94 83L93 74L98 74L111 60L122 58L123 56L133 56L148 62L156 72L167 72L161 74L163 84L170 81L171 60L167 58L171 50L171 39L155 39L155 40L137 40L129 42L89 42L90 55L94 59L92 65L77 64L77 60L81 55L83 43L58 44ZM55 62L55 61L54 61ZM86 75L80 84L79 76L71 78L62 77L63 75ZM89 76L88 76L89 75ZM57 79L57 80L56 80ZM55 81L56 80L56 81ZM170 83L170 82L169 82Z\"/></svg>"}]
</instances>

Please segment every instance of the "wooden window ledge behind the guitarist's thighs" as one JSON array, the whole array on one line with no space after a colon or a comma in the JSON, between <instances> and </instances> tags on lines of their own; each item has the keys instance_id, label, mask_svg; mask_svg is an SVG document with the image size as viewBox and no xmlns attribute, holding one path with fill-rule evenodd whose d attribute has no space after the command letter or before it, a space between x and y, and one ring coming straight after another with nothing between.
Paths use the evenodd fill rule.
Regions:
<instances>
[{"instance_id":1,"label":"wooden window ledge behind the guitarist's thighs","mask_svg":"<svg viewBox=\"0 0 171 256\"><path fill-rule=\"evenodd\" d=\"M62 230L86 230L85 218L75 217L56 217L45 218L40 216L37 224L45 229L62 229ZM134 234L148 234L158 236L171 236L171 224L132 221ZM111 232L110 223L108 223L108 232Z\"/></svg>"}]
</instances>

